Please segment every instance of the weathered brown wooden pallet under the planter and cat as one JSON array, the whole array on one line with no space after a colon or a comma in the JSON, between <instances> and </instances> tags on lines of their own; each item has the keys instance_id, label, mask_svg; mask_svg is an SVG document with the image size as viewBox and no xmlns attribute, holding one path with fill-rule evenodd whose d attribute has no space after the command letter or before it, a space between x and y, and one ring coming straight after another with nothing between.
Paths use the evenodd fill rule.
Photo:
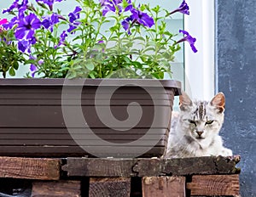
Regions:
<instances>
[{"instance_id":1,"label":"weathered brown wooden pallet under the planter and cat","mask_svg":"<svg viewBox=\"0 0 256 197\"><path fill-rule=\"evenodd\" d=\"M0 192L13 186L33 197L238 196L239 160L0 157Z\"/></svg>"}]
</instances>

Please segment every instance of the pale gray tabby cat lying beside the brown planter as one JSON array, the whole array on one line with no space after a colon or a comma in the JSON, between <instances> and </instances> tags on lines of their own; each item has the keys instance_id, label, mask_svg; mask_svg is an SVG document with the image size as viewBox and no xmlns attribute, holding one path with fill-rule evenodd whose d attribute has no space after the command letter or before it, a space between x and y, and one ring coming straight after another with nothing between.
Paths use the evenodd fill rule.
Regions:
<instances>
[{"instance_id":1,"label":"pale gray tabby cat lying beside the brown planter","mask_svg":"<svg viewBox=\"0 0 256 197\"><path fill-rule=\"evenodd\" d=\"M191 101L182 93L179 115L173 113L166 157L231 156L232 150L224 148L218 135L224 105L224 93L218 93L211 102Z\"/></svg>"}]
</instances>

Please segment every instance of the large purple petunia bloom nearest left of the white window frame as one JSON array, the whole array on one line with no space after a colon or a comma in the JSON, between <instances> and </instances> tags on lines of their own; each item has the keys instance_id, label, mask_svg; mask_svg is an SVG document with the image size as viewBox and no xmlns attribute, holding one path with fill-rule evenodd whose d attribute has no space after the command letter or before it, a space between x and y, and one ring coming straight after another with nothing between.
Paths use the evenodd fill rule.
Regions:
<instances>
[{"instance_id":1,"label":"large purple petunia bloom nearest left of the white window frame","mask_svg":"<svg viewBox=\"0 0 256 197\"><path fill-rule=\"evenodd\" d=\"M135 23L147 27L151 27L154 25L154 19L150 17L147 13L143 13L142 11L137 10L136 8L132 8L130 11L131 16L122 21L122 25L125 31L128 31L129 34L131 34L131 26Z\"/></svg>"}]
</instances>

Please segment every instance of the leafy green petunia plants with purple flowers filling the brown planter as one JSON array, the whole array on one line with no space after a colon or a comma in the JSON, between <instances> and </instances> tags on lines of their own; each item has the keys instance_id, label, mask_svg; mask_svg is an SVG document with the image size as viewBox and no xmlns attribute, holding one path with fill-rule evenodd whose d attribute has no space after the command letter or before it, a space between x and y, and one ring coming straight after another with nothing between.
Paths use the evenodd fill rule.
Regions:
<instances>
[{"instance_id":1,"label":"leafy green petunia plants with purple flowers filling the brown planter","mask_svg":"<svg viewBox=\"0 0 256 197\"><path fill-rule=\"evenodd\" d=\"M172 74L178 43L187 41L197 51L189 32L180 30L184 37L176 40L166 27L172 14L189 14L185 0L172 11L132 0L76 0L79 6L67 15L55 9L61 2L15 0L3 9L13 18L0 24L0 54L14 58L5 59L13 62L9 66L1 59L4 77L8 71L14 76L22 63L30 65L27 77L162 79Z\"/></svg>"}]
</instances>

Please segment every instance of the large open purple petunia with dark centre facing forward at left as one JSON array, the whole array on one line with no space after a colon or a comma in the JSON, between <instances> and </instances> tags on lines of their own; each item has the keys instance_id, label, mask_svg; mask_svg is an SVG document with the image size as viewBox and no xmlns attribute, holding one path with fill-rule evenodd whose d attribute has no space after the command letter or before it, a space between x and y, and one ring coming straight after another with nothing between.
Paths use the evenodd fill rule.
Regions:
<instances>
[{"instance_id":1,"label":"large open purple petunia with dark centre facing forward at left","mask_svg":"<svg viewBox=\"0 0 256 197\"><path fill-rule=\"evenodd\" d=\"M41 21L36 14L29 14L25 18L20 19L18 27L15 30L15 37L18 40L23 38L32 39L34 37L35 30L40 28Z\"/></svg>"}]
</instances>

